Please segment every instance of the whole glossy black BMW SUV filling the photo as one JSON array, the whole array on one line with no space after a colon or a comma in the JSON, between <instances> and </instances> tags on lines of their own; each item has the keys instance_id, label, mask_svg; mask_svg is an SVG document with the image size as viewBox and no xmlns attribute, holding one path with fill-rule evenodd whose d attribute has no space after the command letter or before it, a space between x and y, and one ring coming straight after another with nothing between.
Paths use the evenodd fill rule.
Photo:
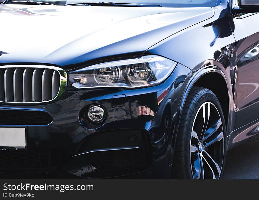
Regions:
<instances>
[{"instance_id":1,"label":"whole glossy black BMW SUV filling the photo","mask_svg":"<svg viewBox=\"0 0 259 200\"><path fill-rule=\"evenodd\" d=\"M259 133L258 0L0 4L0 172L223 176Z\"/></svg>"}]
</instances>

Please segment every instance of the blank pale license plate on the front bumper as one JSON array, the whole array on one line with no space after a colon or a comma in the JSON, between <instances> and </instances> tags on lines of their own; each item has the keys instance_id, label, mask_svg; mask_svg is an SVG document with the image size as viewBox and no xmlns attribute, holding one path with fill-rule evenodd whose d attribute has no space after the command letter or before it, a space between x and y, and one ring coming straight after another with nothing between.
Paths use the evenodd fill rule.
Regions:
<instances>
[{"instance_id":1,"label":"blank pale license plate on the front bumper","mask_svg":"<svg viewBox=\"0 0 259 200\"><path fill-rule=\"evenodd\" d=\"M26 147L26 128L0 128L0 147Z\"/></svg>"}]
</instances>

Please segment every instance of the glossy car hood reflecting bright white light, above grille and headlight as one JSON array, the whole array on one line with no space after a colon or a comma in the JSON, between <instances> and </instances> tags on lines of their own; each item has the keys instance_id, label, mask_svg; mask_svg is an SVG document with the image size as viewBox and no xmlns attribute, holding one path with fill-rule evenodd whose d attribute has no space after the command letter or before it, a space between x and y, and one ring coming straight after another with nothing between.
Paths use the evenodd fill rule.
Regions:
<instances>
[{"instance_id":1,"label":"glossy car hood reflecting bright white light, above grille and headlight","mask_svg":"<svg viewBox=\"0 0 259 200\"><path fill-rule=\"evenodd\" d=\"M2 4L0 63L71 70L94 59L144 52L213 15L212 8Z\"/></svg>"}]
</instances>

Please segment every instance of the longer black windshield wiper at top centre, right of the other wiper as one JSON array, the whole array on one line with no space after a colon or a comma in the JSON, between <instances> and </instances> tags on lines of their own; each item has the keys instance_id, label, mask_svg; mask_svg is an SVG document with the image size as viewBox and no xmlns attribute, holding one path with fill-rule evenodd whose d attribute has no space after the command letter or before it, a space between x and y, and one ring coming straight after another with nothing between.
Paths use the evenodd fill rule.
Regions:
<instances>
[{"instance_id":1,"label":"longer black windshield wiper at top centre, right of the other wiper","mask_svg":"<svg viewBox=\"0 0 259 200\"><path fill-rule=\"evenodd\" d=\"M98 3L74 3L65 4L65 6L125 6L125 7L163 7L160 5L149 4L131 4L131 3L113 3L113 2L98 2Z\"/></svg>"}]
</instances>

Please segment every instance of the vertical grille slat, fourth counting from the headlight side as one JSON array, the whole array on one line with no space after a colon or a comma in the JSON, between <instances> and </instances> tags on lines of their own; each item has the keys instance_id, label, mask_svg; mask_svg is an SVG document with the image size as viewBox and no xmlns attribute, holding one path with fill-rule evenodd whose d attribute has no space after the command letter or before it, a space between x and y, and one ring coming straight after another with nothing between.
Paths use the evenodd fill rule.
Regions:
<instances>
[{"instance_id":1,"label":"vertical grille slat, fourth counting from the headlight side","mask_svg":"<svg viewBox=\"0 0 259 200\"><path fill-rule=\"evenodd\" d=\"M32 101L32 73L34 68L26 68L22 77L23 102Z\"/></svg>"}]
</instances>

